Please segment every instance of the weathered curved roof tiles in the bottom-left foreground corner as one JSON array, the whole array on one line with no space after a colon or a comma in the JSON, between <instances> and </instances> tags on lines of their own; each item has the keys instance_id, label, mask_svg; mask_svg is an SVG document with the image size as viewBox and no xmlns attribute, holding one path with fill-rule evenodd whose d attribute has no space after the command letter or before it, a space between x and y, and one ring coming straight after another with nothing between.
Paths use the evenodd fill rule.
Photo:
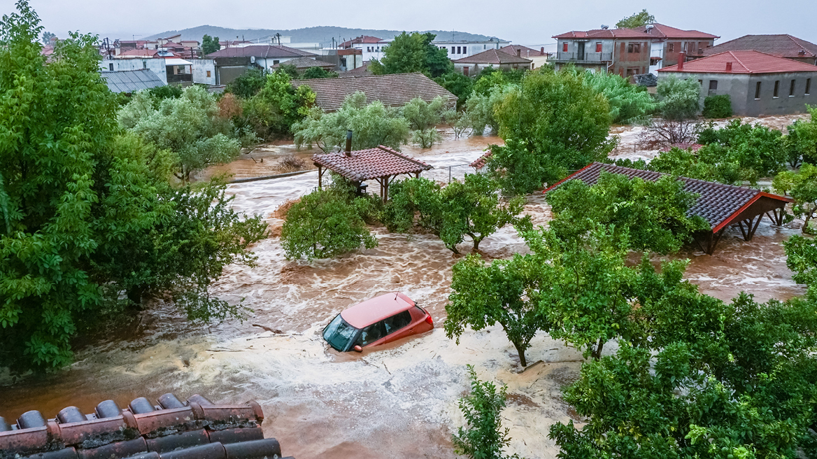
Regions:
<instances>
[{"instance_id":1,"label":"weathered curved roof tiles in the bottom-left foreground corner","mask_svg":"<svg viewBox=\"0 0 817 459\"><path fill-rule=\"evenodd\" d=\"M264 439L258 403L213 404L201 395L182 403L164 394L153 405L140 397L120 409L114 400L83 414L63 408L46 420L38 411L14 424L0 417L0 458L30 459L262 459L280 457Z\"/></svg>"}]
</instances>

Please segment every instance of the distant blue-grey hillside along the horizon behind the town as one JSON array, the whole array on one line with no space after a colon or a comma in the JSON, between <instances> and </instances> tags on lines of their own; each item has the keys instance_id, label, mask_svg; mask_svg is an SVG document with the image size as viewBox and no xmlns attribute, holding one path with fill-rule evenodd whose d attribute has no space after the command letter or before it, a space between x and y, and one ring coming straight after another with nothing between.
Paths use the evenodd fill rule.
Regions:
<instances>
[{"instance_id":1,"label":"distant blue-grey hillside along the horizon behind the town","mask_svg":"<svg viewBox=\"0 0 817 459\"><path fill-rule=\"evenodd\" d=\"M306 27L305 29L225 29L224 27L216 27L214 25L199 25L191 29L183 30L168 30L167 32L156 33L145 37L145 40L155 40L159 37L172 37L181 33L182 40L198 40L202 41L204 35L211 37L218 37L221 40L234 40L236 37L244 40L255 40L256 38L268 38L275 33L280 33L283 36L292 37L293 43L321 43L323 46L332 44L332 38L335 40L348 40L350 38L359 37L360 35L371 35L377 38L394 38L399 35L402 30L374 30L374 29L347 29L346 27ZM425 31L424 31L425 32ZM487 40L491 38L489 35L480 35L477 33L466 32L452 32L442 30L428 30L428 32L435 33L438 39L442 40Z\"/></svg>"}]
</instances>

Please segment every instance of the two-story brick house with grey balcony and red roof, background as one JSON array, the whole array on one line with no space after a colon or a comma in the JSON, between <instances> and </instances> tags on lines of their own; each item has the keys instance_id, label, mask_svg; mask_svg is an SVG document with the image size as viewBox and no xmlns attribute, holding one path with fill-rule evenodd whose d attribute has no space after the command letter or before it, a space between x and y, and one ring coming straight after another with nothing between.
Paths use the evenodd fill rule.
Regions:
<instances>
[{"instance_id":1,"label":"two-story brick house with grey balcony and red roof, background","mask_svg":"<svg viewBox=\"0 0 817 459\"><path fill-rule=\"evenodd\" d=\"M592 72L628 77L646 74L650 68L649 33L633 29L595 29L556 35L556 53L551 61L560 69L575 65Z\"/></svg>"}]
</instances>

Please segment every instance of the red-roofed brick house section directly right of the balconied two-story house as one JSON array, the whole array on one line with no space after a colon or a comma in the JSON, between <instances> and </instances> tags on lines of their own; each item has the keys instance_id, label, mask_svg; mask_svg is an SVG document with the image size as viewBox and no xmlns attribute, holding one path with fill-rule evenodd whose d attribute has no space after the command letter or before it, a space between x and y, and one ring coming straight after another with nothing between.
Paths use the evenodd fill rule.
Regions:
<instances>
[{"instance_id":1,"label":"red-roofed brick house section directly right of the balconied two-story house","mask_svg":"<svg viewBox=\"0 0 817 459\"><path fill-rule=\"evenodd\" d=\"M652 36L650 43L650 73L676 65L681 53L691 56L715 45L717 35L699 30L681 30L659 23L637 29Z\"/></svg>"}]
</instances>

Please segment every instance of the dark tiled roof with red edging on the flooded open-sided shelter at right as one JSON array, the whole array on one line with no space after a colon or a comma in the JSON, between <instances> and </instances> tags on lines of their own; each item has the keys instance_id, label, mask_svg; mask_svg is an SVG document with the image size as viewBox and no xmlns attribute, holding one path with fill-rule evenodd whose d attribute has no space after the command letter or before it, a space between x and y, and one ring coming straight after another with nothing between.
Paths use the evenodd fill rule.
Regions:
<instances>
[{"instance_id":1,"label":"dark tiled roof with red edging on the flooded open-sided shelter at right","mask_svg":"<svg viewBox=\"0 0 817 459\"><path fill-rule=\"evenodd\" d=\"M587 185L595 185L602 171L620 174L630 179L638 177L650 181L659 180L661 176L667 175L661 172L642 171L641 169L615 166L614 164L592 163L582 170L574 172L574 174L568 176L565 180L557 182L556 185L545 189L544 193L547 193L551 189L556 189L556 187L566 180L577 179L582 180ZM708 221L709 225L712 226L712 233L717 233L721 228L730 225L743 209L757 201L758 198L771 198L784 203L790 203L792 201L789 198L777 196L776 194L762 192L760 189L723 185L712 181L696 180L687 177L678 177L678 180L684 182L684 191L699 195L693 206L690 207L690 210L686 212L686 215L701 216L703 220Z\"/></svg>"}]
</instances>

